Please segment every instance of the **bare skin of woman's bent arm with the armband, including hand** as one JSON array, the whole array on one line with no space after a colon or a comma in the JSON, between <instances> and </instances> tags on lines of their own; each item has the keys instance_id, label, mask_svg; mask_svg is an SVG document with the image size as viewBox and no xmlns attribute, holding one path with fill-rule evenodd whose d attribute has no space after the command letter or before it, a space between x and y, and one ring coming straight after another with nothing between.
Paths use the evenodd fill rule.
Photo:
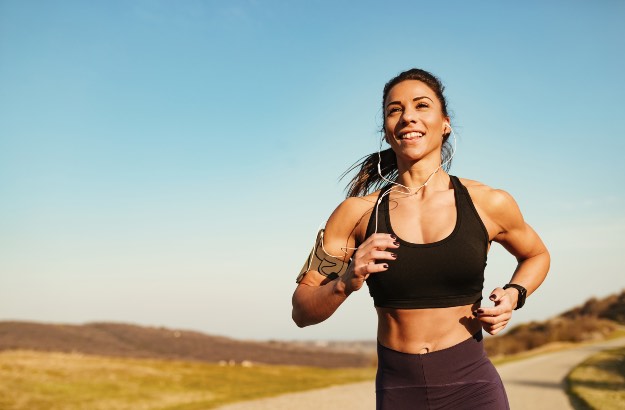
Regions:
<instances>
[{"instance_id":1,"label":"bare skin of woman's bent arm with the armband, including hand","mask_svg":"<svg viewBox=\"0 0 625 410\"><path fill-rule=\"evenodd\" d=\"M395 239L388 234L375 234L367 238L354 253L356 235L363 215L371 210L371 203L363 198L348 198L332 213L326 224L324 248L330 255L344 255L343 261L352 261L342 276L329 280L315 270L310 270L293 293L293 321L299 327L323 322L354 291L359 290L370 274L387 269L384 260L392 260L386 249L397 248ZM366 222L365 222L366 223Z\"/></svg>"}]
</instances>

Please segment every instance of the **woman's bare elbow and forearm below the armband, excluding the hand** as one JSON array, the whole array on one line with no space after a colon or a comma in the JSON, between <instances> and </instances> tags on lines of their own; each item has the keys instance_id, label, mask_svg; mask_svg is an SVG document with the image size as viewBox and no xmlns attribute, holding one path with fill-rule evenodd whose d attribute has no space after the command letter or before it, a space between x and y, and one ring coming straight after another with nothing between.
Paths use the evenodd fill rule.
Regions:
<instances>
[{"instance_id":1,"label":"woman's bare elbow and forearm below the armband, excluding the hand","mask_svg":"<svg viewBox=\"0 0 625 410\"><path fill-rule=\"evenodd\" d=\"M293 293L293 321L299 327L321 323L332 316L348 295L341 279L323 286L300 284Z\"/></svg>"}]
</instances>

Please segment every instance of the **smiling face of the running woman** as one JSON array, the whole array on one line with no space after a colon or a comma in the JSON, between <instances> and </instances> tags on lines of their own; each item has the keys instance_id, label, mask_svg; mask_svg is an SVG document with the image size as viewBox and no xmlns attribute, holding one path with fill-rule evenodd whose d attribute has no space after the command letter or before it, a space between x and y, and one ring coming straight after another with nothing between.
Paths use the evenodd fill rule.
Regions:
<instances>
[{"instance_id":1,"label":"smiling face of the running woman","mask_svg":"<svg viewBox=\"0 0 625 410\"><path fill-rule=\"evenodd\" d=\"M448 126L438 97L425 83L406 80L389 91L384 102L384 133L398 160L436 156L440 161Z\"/></svg>"}]
</instances>

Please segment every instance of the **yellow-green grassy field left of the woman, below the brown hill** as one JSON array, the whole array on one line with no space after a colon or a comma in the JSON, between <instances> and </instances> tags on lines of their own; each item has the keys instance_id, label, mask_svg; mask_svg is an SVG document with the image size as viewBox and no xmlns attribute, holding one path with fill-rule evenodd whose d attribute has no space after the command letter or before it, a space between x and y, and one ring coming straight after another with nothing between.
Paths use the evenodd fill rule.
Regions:
<instances>
[{"instance_id":1,"label":"yellow-green grassy field left of the woman, below the brown hill","mask_svg":"<svg viewBox=\"0 0 625 410\"><path fill-rule=\"evenodd\" d=\"M0 352L0 409L210 409L374 377L373 367L242 367L4 351Z\"/></svg>"}]
</instances>

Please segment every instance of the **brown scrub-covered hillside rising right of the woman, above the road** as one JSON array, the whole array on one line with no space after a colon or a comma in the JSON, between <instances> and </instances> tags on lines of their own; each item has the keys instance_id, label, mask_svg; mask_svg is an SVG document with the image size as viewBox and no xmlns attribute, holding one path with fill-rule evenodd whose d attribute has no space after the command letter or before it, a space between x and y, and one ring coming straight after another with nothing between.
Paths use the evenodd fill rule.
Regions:
<instances>
[{"instance_id":1,"label":"brown scrub-covered hillside rising right of the woman, above the road","mask_svg":"<svg viewBox=\"0 0 625 410\"><path fill-rule=\"evenodd\" d=\"M583 305L543 321L513 327L502 336L486 339L491 357L525 352L549 343L603 340L625 325L625 291Z\"/></svg>"}]
</instances>

